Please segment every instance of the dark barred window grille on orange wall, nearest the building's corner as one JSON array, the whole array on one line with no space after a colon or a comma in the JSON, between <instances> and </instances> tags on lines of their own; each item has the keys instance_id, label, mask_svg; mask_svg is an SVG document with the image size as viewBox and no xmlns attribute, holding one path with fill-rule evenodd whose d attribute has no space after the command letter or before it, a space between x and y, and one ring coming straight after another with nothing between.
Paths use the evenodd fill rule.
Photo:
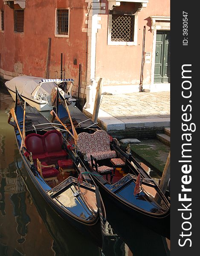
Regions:
<instances>
[{"instance_id":1,"label":"dark barred window grille on orange wall, nearest the building's corner","mask_svg":"<svg viewBox=\"0 0 200 256\"><path fill-rule=\"evenodd\" d=\"M69 10L57 10L57 33L68 35L69 32Z\"/></svg>"}]
</instances>

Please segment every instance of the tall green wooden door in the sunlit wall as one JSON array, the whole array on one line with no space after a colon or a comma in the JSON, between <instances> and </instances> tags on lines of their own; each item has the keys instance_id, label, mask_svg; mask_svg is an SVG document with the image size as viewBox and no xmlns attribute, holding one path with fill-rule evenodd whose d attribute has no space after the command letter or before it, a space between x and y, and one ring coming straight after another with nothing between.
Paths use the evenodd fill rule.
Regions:
<instances>
[{"instance_id":1,"label":"tall green wooden door in the sunlit wall","mask_svg":"<svg viewBox=\"0 0 200 256\"><path fill-rule=\"evenodd\" d=\"M154 83L170 83L169 31L157 31Z\"/></svg>"}]
</instances>

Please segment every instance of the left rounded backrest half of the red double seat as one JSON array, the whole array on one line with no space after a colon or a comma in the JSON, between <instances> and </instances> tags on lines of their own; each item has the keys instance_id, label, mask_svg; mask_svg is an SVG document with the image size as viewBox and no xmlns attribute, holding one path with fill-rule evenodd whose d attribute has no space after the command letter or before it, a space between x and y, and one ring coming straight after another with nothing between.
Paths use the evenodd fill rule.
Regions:
<instances>
[{"instance_id":1,"label":"left rounded backrest half of the red double seat","mask_svg":"<svg viewBox=\"0 0 200 256\"><path fill-rule=\"evenodd\" d=\"M46 152L46 147L43 142L43 136L40 134L29 134L26 136L25 145L29 152L34 154L43 154Z\"/></svg>"}]
</instances>

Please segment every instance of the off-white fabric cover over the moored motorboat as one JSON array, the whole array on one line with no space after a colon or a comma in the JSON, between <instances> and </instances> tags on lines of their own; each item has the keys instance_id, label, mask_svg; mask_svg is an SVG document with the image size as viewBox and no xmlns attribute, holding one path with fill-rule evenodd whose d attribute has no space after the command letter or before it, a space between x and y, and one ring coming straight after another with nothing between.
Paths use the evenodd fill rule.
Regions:
<instances>
[{"instance_id":1,"label":"off-white fabric cover over the moored motorboat","mask_svg":"<svg viewBox=\"0 0 200 256\"><path fill-rule=\"evenodd\" d=\"M42 79L44 78L35 77L35 76L16 76L10 81L6 81L5 84L6 84L6 87L13 90L14 92L15 92L15 85L16 85L20 95L30 99L31 93L33 92L33 90L35 90L35 88L38 86L38 84L41 82ZM57 87L57 84L55 82L43 83L39 88L38 93L40 94L46 93L47 101L51 101L51 92L54 87ZM64 93L64 97L68 98L69 95L67 95L67 93Z\"/></svg>"}]
</instances>

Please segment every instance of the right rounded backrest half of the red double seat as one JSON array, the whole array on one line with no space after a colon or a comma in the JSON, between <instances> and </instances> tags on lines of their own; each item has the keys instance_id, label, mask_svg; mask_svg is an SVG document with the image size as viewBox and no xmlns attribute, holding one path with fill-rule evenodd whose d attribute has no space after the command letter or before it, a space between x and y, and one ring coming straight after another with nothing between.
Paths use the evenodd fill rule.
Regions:
<instances>
[{"instance_id":1,"label":"right rounded backrest half of the red double seat","mask_svg":"<svg viewBox=\"0 0 200 256\"><path fill-rule=\"evenodd\" d=\"M48 131L44 135L44 140L46 144L46 151L48 153L55 152L55 151L61 151L62 150L62 135L57 130Z\"/></svg>"}]
</instances>

